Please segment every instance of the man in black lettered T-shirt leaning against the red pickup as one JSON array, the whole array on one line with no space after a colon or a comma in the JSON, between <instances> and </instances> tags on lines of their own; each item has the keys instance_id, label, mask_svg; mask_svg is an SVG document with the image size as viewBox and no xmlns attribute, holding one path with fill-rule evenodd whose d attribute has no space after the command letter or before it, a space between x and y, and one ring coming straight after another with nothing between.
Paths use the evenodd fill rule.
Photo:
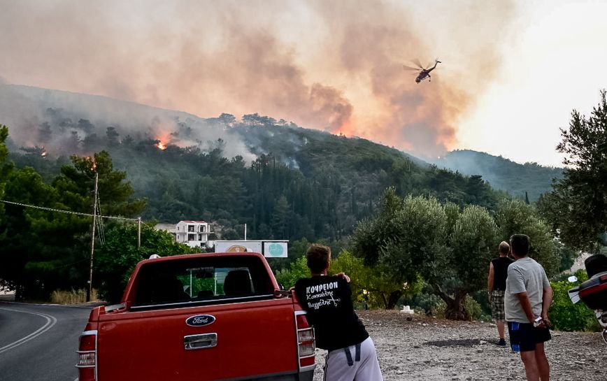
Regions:
<instances>
[{"instance_id":1,"label":"man in black lettered T-shirt leaning against the red pickup","mask_svg":"<svg viewBox=\"0 0 607 381\"><path fill-rule=\"evenodd\" d=\"M331 249L311 245L306 254L312 278L295 283L297 301L314 325L316 346L328 350L327 381L383 381L373 340L352 306L349 278L327 275Z\"/></svg>"}]
</instances>

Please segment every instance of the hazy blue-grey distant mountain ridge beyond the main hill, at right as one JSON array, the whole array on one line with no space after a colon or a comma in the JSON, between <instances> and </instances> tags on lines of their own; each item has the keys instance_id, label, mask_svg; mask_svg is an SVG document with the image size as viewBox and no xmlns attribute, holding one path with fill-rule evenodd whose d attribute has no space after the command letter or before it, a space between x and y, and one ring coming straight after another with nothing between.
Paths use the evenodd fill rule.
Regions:
<instances>
[{"instance_id":1,"label":"hazy blue-grey distant mountain ridge beyond the main hill, at right","mask_svg":"<svg viewBox=\"0 0 607 381\"><path fill-rule=\"evenodd\" d=\"M529 201L552 190L552 180L563 177L564 168L541 166L536 163L518 164L504 157L485 152L456 150L441 159L429 159L439 168L448 168L464 175L481 175L495 189L524 199L525 192Z\"/></svg>"}]
</instances>

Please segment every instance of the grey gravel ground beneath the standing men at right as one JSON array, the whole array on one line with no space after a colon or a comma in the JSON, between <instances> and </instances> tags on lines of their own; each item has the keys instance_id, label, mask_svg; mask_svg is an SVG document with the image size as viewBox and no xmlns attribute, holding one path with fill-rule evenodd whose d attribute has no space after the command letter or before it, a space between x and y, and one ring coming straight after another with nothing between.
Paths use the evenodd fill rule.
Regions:
<instances>
[{"instance_id":1,"label":"grey gravel ground beneath the standing men at right","mask_svg":"<svg viewBox=\"0 0 607 381\"><path fill-rule=\"evenodd\" d=\"M526 380L520 354L495 345L494 324L438 320L397 310L357 314L375 342L386 381ZM545 348L551 380L607 380L607 345L599 333L553 331ZM315 381L322 381L325 354L317 350Z\"/></svg>"}]
</instances>

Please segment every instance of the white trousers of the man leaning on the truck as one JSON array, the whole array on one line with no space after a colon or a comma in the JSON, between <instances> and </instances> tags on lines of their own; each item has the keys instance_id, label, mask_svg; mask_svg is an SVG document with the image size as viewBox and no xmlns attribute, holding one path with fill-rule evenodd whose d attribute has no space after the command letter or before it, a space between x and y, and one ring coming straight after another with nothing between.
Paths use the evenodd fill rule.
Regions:
<instances>
[{"instance_id":1,"label":"white trousers of the man leaning on the truck","mask_svg":"<svg viewBox=\"0 0 607 381\"><path fill-rule=\"evenodd\" d=\"M346 350L352 365L348 365ZM371 336L360 343L360 357L356 360L356 345L332 350L324 360L324 381L383 381Z\"/></svg>"}]
</instances>

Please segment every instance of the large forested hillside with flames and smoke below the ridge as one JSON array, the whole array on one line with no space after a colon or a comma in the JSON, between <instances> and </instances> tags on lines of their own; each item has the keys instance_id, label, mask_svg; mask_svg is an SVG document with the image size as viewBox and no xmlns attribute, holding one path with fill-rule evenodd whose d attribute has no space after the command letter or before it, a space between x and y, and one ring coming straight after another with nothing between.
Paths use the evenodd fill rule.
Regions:
<instances>
[{"instance_id":1,"label":"large forested hillside with flames and smoke below the ridge","mask_svg":"<svg viewBox=\"0 0 607 381\"><path fill-rule=\"evenodd\" d=\"M50 181L71 154L105 150L135 196L148 199L146 220L207 220L224 239L242 238L247 224L248 238L341 240L372 215L386 187L490 209L504 196L478 175L257 114L201 119L31 87L4 86L2 96L17 168Z\"/></svg>"}]
</instances>

